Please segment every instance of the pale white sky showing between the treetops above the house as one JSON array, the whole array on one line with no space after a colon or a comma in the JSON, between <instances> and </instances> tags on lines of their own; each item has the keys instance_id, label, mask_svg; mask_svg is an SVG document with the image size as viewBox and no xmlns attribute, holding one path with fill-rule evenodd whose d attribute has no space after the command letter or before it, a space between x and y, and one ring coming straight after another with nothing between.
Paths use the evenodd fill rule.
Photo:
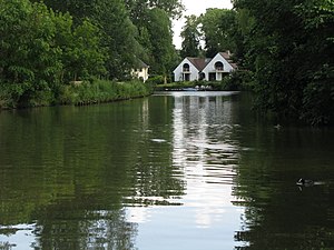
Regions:
<instances>
[{"instance_id":1,"label":"pale white sky showing between the treetops above the house","mask_svg":"<svg viewBox=\"0 0 334 250\"><path fill-rule=\"evenodd\" d=\"M184 16L196 14L199 16L205 13L208 8L219 8L219 9L232 9L230 0L183 0L186 11ZM181 47L180 32L185 24L185 19L180 19L173 22L174 29L174 44L176 49Z\"/></svg>"}]
</instances>

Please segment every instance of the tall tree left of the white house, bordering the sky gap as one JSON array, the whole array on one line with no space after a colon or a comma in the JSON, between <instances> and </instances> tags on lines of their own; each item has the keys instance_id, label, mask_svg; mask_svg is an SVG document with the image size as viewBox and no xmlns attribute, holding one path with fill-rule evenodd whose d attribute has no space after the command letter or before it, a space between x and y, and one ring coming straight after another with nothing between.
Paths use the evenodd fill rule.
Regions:
<instances>
[{"instance_id":1,"label":"tall tree left of the white house, bordering the sky gap","mask_svg":"<svg viewBox=\"0 0 334 250\"><path fill-rule=\"evenodd\" d=\"M173 46L171 20L184 9L179 0L126 0L130 19L143 47L140 58L150 66L151 74L167 76L177 61Z\"/></svg>"}]
</instances>

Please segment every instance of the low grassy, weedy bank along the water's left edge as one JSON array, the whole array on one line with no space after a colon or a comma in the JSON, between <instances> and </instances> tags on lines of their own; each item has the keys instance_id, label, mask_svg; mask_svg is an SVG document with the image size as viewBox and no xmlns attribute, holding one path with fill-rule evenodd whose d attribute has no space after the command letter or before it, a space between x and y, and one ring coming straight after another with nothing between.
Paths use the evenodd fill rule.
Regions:
<instances>
[{"instance_id":1,"label":"low grassy, weedy bank along the water's left edge","mask_svg":"<svg viewBox=\"0 0 334 250\"><path fill-rule=\"evenodd\" d=\"M18 99L10 88L0 89L0 109L33 108L57 104L94 104L146 97L153 88L138 80L114 82L107 80L76 81L53 90L36 91Z\"/></svg>"}]
</instances>

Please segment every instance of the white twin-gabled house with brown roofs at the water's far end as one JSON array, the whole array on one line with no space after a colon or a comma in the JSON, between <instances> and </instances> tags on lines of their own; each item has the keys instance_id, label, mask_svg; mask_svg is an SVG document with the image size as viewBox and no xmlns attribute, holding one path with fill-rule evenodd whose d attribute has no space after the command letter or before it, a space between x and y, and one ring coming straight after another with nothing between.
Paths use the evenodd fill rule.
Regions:
<instances>
[{"instance_id":1,"label":"white twin-gabled house with brown roofs at the water's far end","mask_svg":"<svg viewBox=\"0 0 334 250\"><path fill-rule=\"evenodd\" d=\"M210 58L185 58L173 71L175 81L220 81L224 74L236 69L229 52L219 52Z\"/></svg>"}]
</instances>

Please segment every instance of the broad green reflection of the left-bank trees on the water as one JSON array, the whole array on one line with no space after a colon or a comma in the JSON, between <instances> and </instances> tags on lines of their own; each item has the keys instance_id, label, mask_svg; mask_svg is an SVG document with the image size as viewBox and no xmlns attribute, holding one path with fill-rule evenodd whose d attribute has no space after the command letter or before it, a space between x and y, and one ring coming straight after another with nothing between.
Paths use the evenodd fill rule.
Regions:
<instances>
[{"instance_id":1,"label":"broad green reflection of the left-bank trees on the water","mask_svg":"<svg viewBox=\"0 0 334 250\"><path fill-rule=\"evenodd\" d=\"M124 203L168 204L183 193L167 106L143 99L1 116L0 226L36 222L42 249L132 249L137 226Z\"/></svg>"}]
</instances>

